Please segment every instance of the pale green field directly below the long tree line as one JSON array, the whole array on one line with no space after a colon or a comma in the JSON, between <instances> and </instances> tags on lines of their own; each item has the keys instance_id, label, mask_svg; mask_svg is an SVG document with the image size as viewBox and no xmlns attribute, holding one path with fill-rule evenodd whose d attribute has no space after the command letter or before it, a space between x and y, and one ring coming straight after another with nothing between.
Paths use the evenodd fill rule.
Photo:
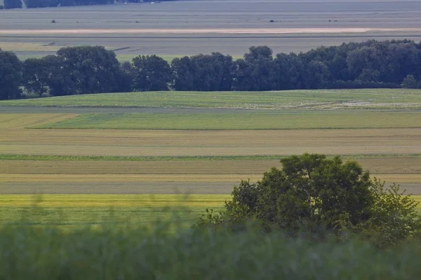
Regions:
<instances>
[{"instance_id":1,"label":"pale green field directly below the long tree line","mask_svg":"<svg viewBox=\"0 0 421 280\"><path fill-rule=\"evenodd\" d=\"M0 106L194 107L232 109L420 109L421 90L126 92L20 99Z\"/></svg>"}]
</instances>

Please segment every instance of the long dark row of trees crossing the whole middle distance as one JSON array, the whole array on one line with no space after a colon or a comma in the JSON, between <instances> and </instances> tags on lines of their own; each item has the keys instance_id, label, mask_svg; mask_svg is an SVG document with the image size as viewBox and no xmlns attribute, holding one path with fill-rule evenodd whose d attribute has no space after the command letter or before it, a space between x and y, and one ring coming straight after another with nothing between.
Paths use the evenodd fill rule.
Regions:
<instances>
[{"instance_id":1,"label":"long dark row of trees crossing the whole middle distance","mask_svg":"<svg viewBox=\"0 0 421 280\"><path fill-rule=\"evenodd\" d=\"M366 41L273 55L251 47L243 58L213 52L171 63L156 55L119 62L102 46L67 47L21 62L0 49L0 99L131 91L265 91L408 87L421 81L421 43Z\"/></svg>"}]
</instances>

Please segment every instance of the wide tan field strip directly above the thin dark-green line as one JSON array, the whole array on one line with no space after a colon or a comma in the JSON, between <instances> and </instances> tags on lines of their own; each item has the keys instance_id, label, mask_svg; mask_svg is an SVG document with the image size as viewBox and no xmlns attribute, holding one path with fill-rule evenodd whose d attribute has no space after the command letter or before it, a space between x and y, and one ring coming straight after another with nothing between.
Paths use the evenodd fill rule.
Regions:
<instances>
[{"instance_id":1,"label":"wide tan field strip directly above the thin dark-green line","mask_svg":"<svg viewBox=\"0 0 421 280\"><path fill-rule=\"evenodd\" d=\"M421 153L420 128L364 130L25 130L0 134L16 155L243 156Z\"/></svg>"}]
</instances>

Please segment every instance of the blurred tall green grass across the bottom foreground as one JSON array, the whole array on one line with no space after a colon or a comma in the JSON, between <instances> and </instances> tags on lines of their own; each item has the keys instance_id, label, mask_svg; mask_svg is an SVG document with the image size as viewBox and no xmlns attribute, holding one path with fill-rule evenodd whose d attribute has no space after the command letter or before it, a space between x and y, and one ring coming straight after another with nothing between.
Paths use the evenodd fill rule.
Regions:
<instances>
[{"instance_id":1,"label":"blurred tall green grass across the bottom foreground","mask_svg":"<svg viewBox=\"0 0 421 280\"><path fill-rule=\"evenodd\" d=\"M281 234L99 228L0 229L0 279L420 279L421 242L379 251L361 241Z\"/></svg>"}]
</instances>

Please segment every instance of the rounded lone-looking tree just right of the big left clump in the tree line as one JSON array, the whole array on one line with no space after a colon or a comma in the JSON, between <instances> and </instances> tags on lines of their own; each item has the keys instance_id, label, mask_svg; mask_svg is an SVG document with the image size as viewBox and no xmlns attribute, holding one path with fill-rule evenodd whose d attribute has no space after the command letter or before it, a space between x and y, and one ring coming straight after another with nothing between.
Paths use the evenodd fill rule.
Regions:
<instances>
[{"instance_id":1,"label":"rounded lone-looking tree just right of the big left clump in the tree line","mask_svg":"<svg viewBox=\"0 0 421 280\"><path fill-rule=\"evenodd\" d=\"M169 90L173 71L163 58L143 55L133 58L135 70L134 90L142 92Z\"/></svg>"}]
</instances>

